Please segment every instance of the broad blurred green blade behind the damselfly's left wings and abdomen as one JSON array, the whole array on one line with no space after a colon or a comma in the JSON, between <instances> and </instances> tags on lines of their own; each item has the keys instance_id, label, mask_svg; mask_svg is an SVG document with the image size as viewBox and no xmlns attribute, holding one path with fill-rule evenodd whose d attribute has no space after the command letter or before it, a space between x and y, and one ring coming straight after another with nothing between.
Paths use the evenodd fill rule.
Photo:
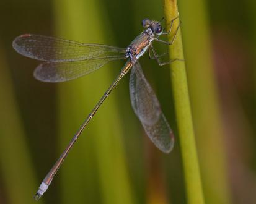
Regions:
<instances>
[{"instance_id":1,"label":"broad blurred green blade behind the damselfly's left wings and abdomen","mask_svg":"<svg viewBox=\"0 0 256 204\"><path fill-rule=\"evenodd\" d=\"M60 6L61 5L61 6ZM105 43L111 36L98 1L55 1L58 36ZM113 64L81 79L59 85L60 147L63 150L115 79ZM63 203L133 203L126 171L123 129L115 90L82 133L61 169Z\"/></svg>"}]
</instances>

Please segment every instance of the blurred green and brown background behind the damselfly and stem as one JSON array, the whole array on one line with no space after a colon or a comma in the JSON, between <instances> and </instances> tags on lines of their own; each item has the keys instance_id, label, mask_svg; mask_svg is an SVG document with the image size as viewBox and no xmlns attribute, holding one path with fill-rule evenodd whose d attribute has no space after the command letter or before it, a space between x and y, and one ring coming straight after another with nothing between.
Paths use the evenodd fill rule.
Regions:
<instances>
[{"instance_id":1,"label":"blurred green and brown background behind the damselfly and stem","mask_svg":"<svg viewBox=\"0 0 256 204\"><path fill-rule=\"evenodd\" d=\"M255 203L256 3L178 4L205 202ZM33 78L40 62L15 53L12 40L35 33L126 47L143 18L163 15L162 1L152 0L0 1L0 203L35 203L43 177L124 64L42 83ZM38 203L187 203L170 69L140 61L176 135L172 153L144 134L127 76Z\"/></svg>"}]
</instances>

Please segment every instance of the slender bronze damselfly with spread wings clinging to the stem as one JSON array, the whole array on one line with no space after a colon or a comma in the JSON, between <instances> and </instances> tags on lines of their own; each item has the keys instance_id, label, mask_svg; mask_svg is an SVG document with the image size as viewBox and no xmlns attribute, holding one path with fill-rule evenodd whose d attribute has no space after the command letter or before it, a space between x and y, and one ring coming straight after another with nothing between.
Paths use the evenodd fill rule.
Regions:
<instances>
[{"instance_id":1,"label":"slender bronze damselfly with spread wings clinging to the stem","mask_svg":"<svg viewBox=\"0 0 256 204\"><path fill-rule=\"evenodd\" d=\"M175 19L177 19L177 17ZM169 153L172 150L174 146L174 135L166 121L166 117L161 111L159 101L154 91L144 77L138 59L148 51L149 57L156 59L160 66L176 60L173 59L171 61L161 62L161 56L157 56L152 45L152 41L172 45L180 24L170 42L160 40L159 36L168 35L171 32L175 19L170 22L170 28L167 32L164 32L160 22L143 19L142 25L144 31L138 35L127 48L77 43L75 41L32 34L20 35L15 38L12 43L15 51L23 56L43 61L34 71L35 78L43 82L65 82L76 79L77 77L99 69L107 62L127 59L125 65L117 75L117 78L107 91L105 91L102 98L100 98L94 109L92 109L91 113L87 116L60 158L56 161L53 168L51 168L45 179L43 179L35 194L36 200L46 192L53 177L63 163L64 158L66 158L69 150L73 147L77 138L81 135L82 130L84 130L90 119L92 119L97 109L99 109L104 100L110 95L113 88L115 88L117 83L130 70L130 98L136 116L138 116L141 121L148 137L159 150L164 153Z\"/></svg>"}]
</instances>

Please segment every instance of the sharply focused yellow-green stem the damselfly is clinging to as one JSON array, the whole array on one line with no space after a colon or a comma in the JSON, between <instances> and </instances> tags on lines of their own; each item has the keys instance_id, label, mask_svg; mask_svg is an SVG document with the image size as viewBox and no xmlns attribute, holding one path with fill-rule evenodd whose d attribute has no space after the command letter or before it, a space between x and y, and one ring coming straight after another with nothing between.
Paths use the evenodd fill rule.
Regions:
<instances>
[{"instance_id":1,"label":"sharply focused yellow-green stem the damselfly is clinging to","mask_svg":"<svg viewBox=\"0 0 256 204\"><path fill-rule=\"evenodd\" d=\"M177 1L164 0L163 2L168 29L168 27L170 27L168 22L179 15L177 10ZM175 30L178 25L179 19L174 20L173 30ZM174 32L171 33L173 34ZM171 40L172 36L173 35L169 35L169 41ZM173 45L169 46L169 58L184 59L180 29L177 32ZM172 80L172 87L174 89L174 106L177 117L180 148L182 151L187 200L190 204L204 203L192 114L190 109L190 99L188 95L185 62L175 61L170 65L170 77Z\"/></svg>"}]
</instances>

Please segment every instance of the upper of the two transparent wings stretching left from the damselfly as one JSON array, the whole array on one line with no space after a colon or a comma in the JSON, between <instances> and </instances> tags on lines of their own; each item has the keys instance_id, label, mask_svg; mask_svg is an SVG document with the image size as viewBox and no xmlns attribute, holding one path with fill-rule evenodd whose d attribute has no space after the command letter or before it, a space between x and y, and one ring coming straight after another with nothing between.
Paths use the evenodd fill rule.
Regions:
<instances>
[{"instance_id":1,"label":"upper of the two transparent wings stretching left from the damselfly","mask_svg":"<svg viewBox=\"0 0 256 204\"><path fill-rule=\"evenodd\" d=\"M108 53L125 53L125 48L99 44L83 44L43 35L20 35L12 42L19 54L48 62L68 62L92 59Z\"/></svg>"}]
</instances>

